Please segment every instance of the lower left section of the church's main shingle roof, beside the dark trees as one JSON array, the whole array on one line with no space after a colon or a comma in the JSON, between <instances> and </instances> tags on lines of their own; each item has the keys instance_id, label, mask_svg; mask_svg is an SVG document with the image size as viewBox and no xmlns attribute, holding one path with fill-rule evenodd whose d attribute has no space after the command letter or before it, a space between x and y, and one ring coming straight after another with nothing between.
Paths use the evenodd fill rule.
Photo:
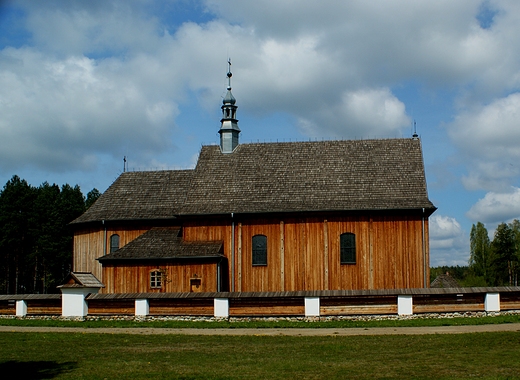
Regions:
<instances>
[{"instance_id":1,"label":"lower left section of the church's main shingle roof, beside the dark trees","mask_svg":"<svg viewBox=\"0 0 520 380\"><path fill-rule=\"evenodd\" d=\"M193 170L126 172L72 223L169 219L179 213Z\"/></svg>"}]
</instances>

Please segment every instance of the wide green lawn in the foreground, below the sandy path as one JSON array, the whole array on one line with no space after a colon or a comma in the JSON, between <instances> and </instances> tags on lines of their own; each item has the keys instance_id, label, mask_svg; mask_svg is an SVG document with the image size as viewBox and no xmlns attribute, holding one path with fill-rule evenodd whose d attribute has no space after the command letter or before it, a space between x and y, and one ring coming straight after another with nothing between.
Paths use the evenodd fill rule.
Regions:
<instances>
[{"instance_id":1,"label":"wide green lawn in the foreground, below the sandy path","mask_svg":"<svg viewBox=\"0 0 520 380\"><path fill-rule=\"evenodd\" d=\"M520 332L419 336L1 333L0 373L30 379L520 376Z\"/></svg>"}]
</instances>

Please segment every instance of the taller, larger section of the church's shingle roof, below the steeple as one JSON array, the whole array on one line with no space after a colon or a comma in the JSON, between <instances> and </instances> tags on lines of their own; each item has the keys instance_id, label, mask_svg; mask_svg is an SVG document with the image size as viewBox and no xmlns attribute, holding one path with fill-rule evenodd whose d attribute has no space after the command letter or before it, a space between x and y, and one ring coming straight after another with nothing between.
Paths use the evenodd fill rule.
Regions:
<instances>
[{"instance_id":1,"label":"taller, larger section of the church's shingle roof, below the steeple","mask_svg":"<svg viewBox=\"0 0 520 380\"><path fill-rule=\"evenodd\" d=\"M419 140L202 148L184 214L432 209Z\"/></svg>"}]
</instances>

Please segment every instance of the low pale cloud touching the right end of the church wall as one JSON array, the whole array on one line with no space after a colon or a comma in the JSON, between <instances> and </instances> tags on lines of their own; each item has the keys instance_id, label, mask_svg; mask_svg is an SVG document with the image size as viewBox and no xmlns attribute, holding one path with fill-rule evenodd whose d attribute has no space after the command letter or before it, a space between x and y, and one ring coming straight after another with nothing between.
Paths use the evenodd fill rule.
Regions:
<instances>
[{"instance_id":1,"label":"low pale cloud touching the right end of the church wall","mask_svg":"<svg viewBox=\"0 0 520 380\"><path fill-rule=\"evenodd\" d=\"M467 265L468 236L452 217L434 214L430 220L430 266Z\"/></svg>"}]
</instances>

